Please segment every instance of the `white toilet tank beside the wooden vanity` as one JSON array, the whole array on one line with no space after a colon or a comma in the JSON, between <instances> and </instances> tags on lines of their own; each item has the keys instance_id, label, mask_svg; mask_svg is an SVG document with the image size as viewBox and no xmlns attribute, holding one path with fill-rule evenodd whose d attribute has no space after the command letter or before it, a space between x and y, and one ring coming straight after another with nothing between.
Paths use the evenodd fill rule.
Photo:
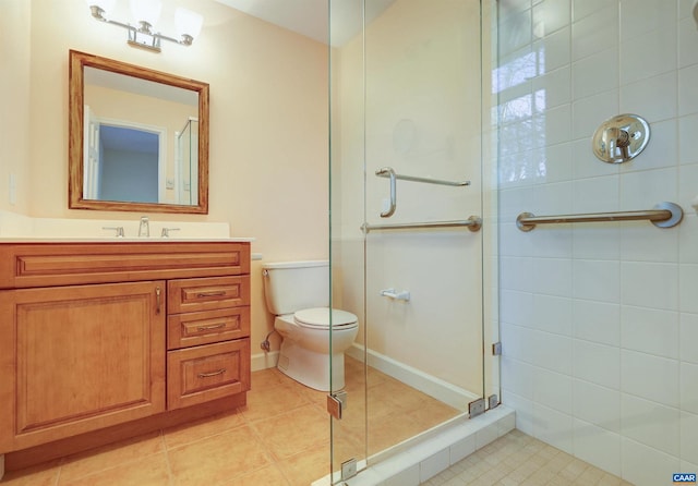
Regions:
<instances>
[{"instance_id":1,"label":"white toilet tank beside the wooden vanity","mask_svg":"<svg viewBox=\"0 0 698 486\"><path fill-rule=\"evenodd\" d=\"M329 262L279 262L262 265L266 308L275 315L329 305Z\"/></svg>"}]
</instances>

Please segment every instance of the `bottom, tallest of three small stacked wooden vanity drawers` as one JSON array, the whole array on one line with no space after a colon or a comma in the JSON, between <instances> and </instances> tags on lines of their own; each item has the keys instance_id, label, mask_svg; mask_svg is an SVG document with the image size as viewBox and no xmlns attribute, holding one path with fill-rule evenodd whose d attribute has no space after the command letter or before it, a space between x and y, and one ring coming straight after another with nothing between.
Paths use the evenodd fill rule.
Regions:
<instances>
[{"instance_id":1,"label":"bottom, tallest of three small stacked wooden vanity drawers","mask_svg":"<svg viewBox=\"0 0 698 486\"><path fill-rule=\"evenodd\" d=\"M203 403L250 389L250 339L167 353L168 410Z\"/></svg>"}]
</instances>

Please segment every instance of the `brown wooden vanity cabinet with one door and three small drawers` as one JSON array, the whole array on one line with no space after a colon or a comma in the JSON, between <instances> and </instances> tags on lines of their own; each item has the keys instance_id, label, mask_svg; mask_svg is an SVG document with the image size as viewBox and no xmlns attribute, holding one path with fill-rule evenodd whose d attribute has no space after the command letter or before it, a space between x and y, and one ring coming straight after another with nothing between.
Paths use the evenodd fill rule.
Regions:
<instances>
[{"instance_id":1,"label":"brown wooden vanity cabinet with one door and three small drawers","mask_svg":"<svg viewBox=\"0 0 698 486\"><path fill-rule=\"evenodd\" d=\"M248 242L0 243L0 454L244 404L249 274Z\"/></svg>"}]
</instances>

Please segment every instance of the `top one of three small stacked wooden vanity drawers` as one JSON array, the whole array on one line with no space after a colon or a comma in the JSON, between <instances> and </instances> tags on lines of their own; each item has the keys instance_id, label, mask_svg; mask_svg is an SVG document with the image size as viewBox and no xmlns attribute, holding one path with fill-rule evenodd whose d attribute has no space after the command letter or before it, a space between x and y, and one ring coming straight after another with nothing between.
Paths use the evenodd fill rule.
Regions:
<instances>
[{"instance_id":1,"label":"top one of three small stacked wooden vanity drawers","mask_svg":"<svg viewBox=\"0 0 698 486\"><path fill-rule=\"evenodd\" d=\"M250 276L170 280L168 314L250 305Z\"/></svg>"}]
</instances>

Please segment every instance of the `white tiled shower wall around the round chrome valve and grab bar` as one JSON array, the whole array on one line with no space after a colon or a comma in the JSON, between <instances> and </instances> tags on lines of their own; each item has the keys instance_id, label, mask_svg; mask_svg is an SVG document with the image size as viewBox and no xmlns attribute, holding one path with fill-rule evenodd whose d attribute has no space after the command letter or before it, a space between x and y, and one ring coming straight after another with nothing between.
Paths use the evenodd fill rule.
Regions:
<instances>
[{"instance_id":1,"label":"white tiled shower wall around the round chrome valve and grab bar","mask_svg":"<svg viewBox=\"0 0 698 486\"><path fill-rule=\"evenodd\" d=\"M500 0L502 397L517 427L638 485L698 472L698 31L693 0ZM637 113L635 160L591 151ZM539 226L650 209L683 222Z\"/></svg>"}]
</instances>

